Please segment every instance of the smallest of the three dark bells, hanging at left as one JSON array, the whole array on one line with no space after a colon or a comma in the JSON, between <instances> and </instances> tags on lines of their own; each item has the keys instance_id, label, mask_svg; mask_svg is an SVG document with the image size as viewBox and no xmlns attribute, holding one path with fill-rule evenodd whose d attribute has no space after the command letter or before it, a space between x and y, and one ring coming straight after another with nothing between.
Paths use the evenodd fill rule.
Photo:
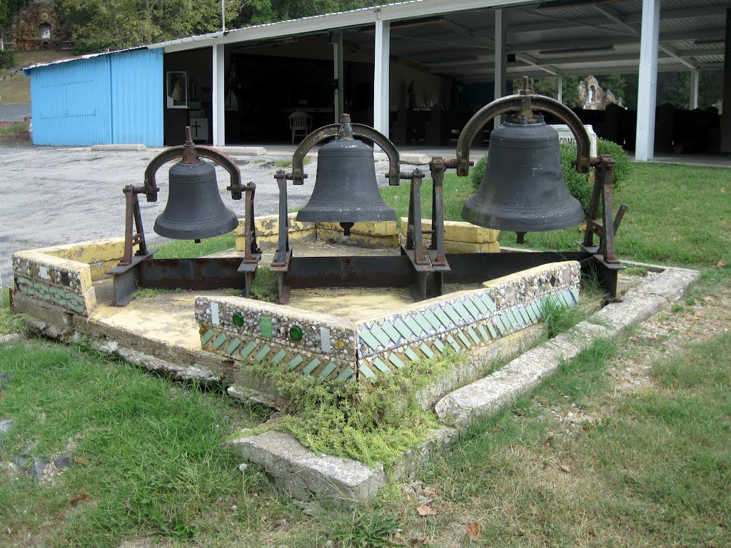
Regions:
<instances>
[{"instance_id":1,"label":"smallest of the three dark bells, hanging at left","mask_svg":"<svg viewBox=\"0 0 731 548\"><path fill-rule=\"evenodd\" d=\"M183 156L168 174L167 204L155 221L157 234L174 240L201 240L238 227L236 214L221 200L213 165L197 156Z\"/></svg>"}]
</instances>

